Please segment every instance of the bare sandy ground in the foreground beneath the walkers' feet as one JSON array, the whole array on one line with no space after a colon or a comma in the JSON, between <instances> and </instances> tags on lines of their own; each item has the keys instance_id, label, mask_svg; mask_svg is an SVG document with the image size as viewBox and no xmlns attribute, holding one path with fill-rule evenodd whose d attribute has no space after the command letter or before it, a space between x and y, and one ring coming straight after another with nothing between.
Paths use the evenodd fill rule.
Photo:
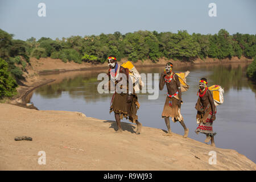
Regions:
<instances>
[{"instance_id":1,"label":"bare sandy ground in the foreground beneath the walkers' feet","mask_svg":"<svg viewBox=\"0 0 256 182\"><path fill-rule=\"evenodd\" d=\"M108 108L106 108L108 109ZM246 156L165 131L85 117L77 112L0 104L0 170L255 170ZM192 132L192 131L190 131ZM32 141L15 141L15 137ZM46 164L39 165L39 151ZM216 151L217 164L208 155Z\"/></svg>"}]
</instances>

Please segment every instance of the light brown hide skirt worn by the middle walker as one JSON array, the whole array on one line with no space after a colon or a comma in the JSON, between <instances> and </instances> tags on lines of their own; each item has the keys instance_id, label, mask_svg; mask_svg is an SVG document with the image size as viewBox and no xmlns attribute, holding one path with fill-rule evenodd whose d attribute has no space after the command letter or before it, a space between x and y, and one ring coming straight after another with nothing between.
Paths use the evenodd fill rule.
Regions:
<instances>
[{"instance_id":1,"label":"light brown hide skirt worn by the middle walker","mask_svg":"<svg viewBox=\"0 0 256 182\"><path fill-rule=\"evenodd\" d=\"M173 122L176 121L183 121L183 117L180 113L180 108L177 105L179 100L176 98L172 97L166 97L166 103L164 104L164 109L162 113L162 118L163 117L171 117Z\"/></svg>"}]
</instances>

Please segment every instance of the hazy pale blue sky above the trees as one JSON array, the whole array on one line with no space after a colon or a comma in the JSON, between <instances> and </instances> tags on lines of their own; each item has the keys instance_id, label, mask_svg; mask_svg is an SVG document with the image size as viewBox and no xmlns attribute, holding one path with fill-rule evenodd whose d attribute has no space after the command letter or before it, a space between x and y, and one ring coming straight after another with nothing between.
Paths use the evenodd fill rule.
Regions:
<instances>
[{"instance_id":1,"label":"hazy pale blue sky above the trees","mask_svg":"<svg viewBox=\"0 0 256 182\"><path fill-rule=\"evenodd\" d=\"M38 16L40 2L46 3L46 17ZM211 2L216 17L208 15ZM0 0L0 28L22 40L138 30L256 34L255 18L255 0Z\"/></svg>"}]
</instances>

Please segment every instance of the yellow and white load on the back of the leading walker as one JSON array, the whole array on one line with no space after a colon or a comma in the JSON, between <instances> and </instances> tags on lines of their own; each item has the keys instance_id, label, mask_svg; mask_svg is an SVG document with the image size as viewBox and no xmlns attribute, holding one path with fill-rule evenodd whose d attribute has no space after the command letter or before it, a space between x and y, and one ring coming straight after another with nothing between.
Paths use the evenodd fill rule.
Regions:
<instances>
[{"instance_id":1,"label":"yellow and white load on the back of the leading walker","mask_svg":"<svg viewBox=\"0 0 256 182\"><path fill-rule=\"evenodd\" d=\"M134 67L133 63L130 61L126 61L121 65L123 68L129 69L129 76L131 77L131 80L133 81L133 88L135 92L139 92L139 90L142 89L144 86L144 83L142 81L141 75L137 71L137 69Z\"/></svg>"}]
</instances>

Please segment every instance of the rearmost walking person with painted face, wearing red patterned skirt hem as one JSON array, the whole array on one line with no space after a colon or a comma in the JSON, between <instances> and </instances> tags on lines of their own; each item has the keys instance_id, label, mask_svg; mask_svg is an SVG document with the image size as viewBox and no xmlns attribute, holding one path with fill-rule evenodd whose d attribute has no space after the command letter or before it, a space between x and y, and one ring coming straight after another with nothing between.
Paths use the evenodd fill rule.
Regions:
<instances>
[{"instance_id":1,"label":"rearmost walking person with painted face, wearing red patterned skirt hem","mask_svg":"<svg viewBox=\"0 0 256 182\"><path fill-rule=\"evenodd\" d=\"M214 100L212 93L207 87L207 79L201 78L199 81L199 98L196 103L196 121L199 126L196 129L196 134L204 133L206 135L205 142L211 141L211 145L215 146L213 136L212 123L216 119L216 106L214 105Z\"/></svg>"}]
</instances>

